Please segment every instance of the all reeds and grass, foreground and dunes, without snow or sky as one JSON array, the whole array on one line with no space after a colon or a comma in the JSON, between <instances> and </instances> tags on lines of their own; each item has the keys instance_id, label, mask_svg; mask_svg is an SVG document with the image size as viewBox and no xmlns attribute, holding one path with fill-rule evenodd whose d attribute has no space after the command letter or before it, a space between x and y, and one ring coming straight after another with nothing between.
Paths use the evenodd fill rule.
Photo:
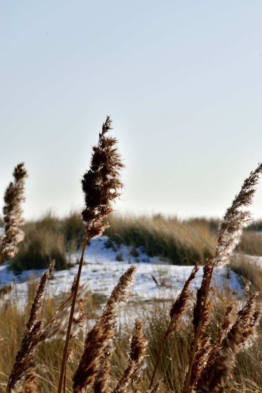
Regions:
<instances>
[{"instance_id":1,"label":"all reeds and grass, foreground and dunes, without snow or sky","mask_svg":"<svg viewBox=\"0 0 262 393\"><path fill-rule=\"evenodd\" d=\"M65 219L46 215L24 225L21 203L27 172L15 167L4 195L4 236L0 263L14 271L48 267L39 283L28 282L28 299L18 309L0 288L0 388L3 392L259 392L262 386L262 268L245 264L260 254L260 223L253 231L251 204L262 164L250 173L221 220L119 217L112 203L120 196L123 165L116 140L108 136L109 117L92 149L84 174L85 206ZM110 228L107 221L110 223ZM173 301L133 302L135 266L120 277L106 303L81 285L85 247L105 234L108 247L120 244L190 264L192 273ZM243 236L242 236L243 234ZM242 243L240 238L242 236ZM70 253L81 248L70 293L48 294L52 272L70 267ZM214 269L229 263L243 283L241 297L213 288ZM191 283L203 264L196 293ZM129 303L127 300L130 299ZM119 316L119 310L122 312Z\"/></svg>"}]
</instances>

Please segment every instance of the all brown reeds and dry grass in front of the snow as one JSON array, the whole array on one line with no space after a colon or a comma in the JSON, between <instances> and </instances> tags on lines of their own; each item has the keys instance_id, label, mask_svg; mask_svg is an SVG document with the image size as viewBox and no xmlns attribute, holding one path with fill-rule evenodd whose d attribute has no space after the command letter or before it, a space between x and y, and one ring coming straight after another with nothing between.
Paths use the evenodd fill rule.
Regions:
<instances>
[{"instance_id":1,"label":"all brown reeds and dry grass in front of the snow","mask_svg":"<svg viewBox=\"0 0 262 393\"><path fill-rule=\"evenodd\" d=\"M256 302L256 293L245 296L244 304L232 296L228 302L223 290L215 296L211 283L214 268L228 263L243 228L251 220L245 207L251 204L262 164L245 180L221 221L216 252L205 263L201 287L195 300L190 283L194 280L198 263L181 293L170 305L169 315L165 303L152 301L149 314L142 305L144 322L135 319L131 332L128 319L126 323L118 321L119 305L125 303L131 294L135 273L135 266L131 265L120 277L101 315L96 316L95 323L89 329L90 315L85 315L84 307L85 296L88 299L88 295L79 284L85 246L90 238L101 235L108 227L106 217L112 213L112 203L120 196L122 188L119 171L123 165L116 149L116 140L107 135L110 129L108 117L99 135L98 145L93 147L90 169L82 181L85 237L71 294L55 312L53 305L51 307L51 303L56 303L55 299L45 298L43 305L45 286L54 269L52 263L39 281L26 323L25 316L19 313L15 305L6 302L11 288L0 290L2 391L260 391L262 334L260 303ZM5 194L5 234L0 261L5 257L15 257L17 243L24 236L20 229L23 223L20 204L24 201L24 178L27 176L23 163L17 165L13 176L14 181ZM201 255L205 256L205 252ZM248 292L246 288L246 294ZM134 308L137 310L137 305ZM47 314L44 309L48 310ZM132 305L126 310L129 309L134 312ZM236 309L239 311L236 312ZM22 332L24 324L25 331ZM258 339L254 335L256 325ZM11 354L17 347L12 365ZM254 360L251 362L252 357ZM235 368L238 361L241 366ZM44 376L47 367L47 375Z\"/></svg>"}]
</instances>

